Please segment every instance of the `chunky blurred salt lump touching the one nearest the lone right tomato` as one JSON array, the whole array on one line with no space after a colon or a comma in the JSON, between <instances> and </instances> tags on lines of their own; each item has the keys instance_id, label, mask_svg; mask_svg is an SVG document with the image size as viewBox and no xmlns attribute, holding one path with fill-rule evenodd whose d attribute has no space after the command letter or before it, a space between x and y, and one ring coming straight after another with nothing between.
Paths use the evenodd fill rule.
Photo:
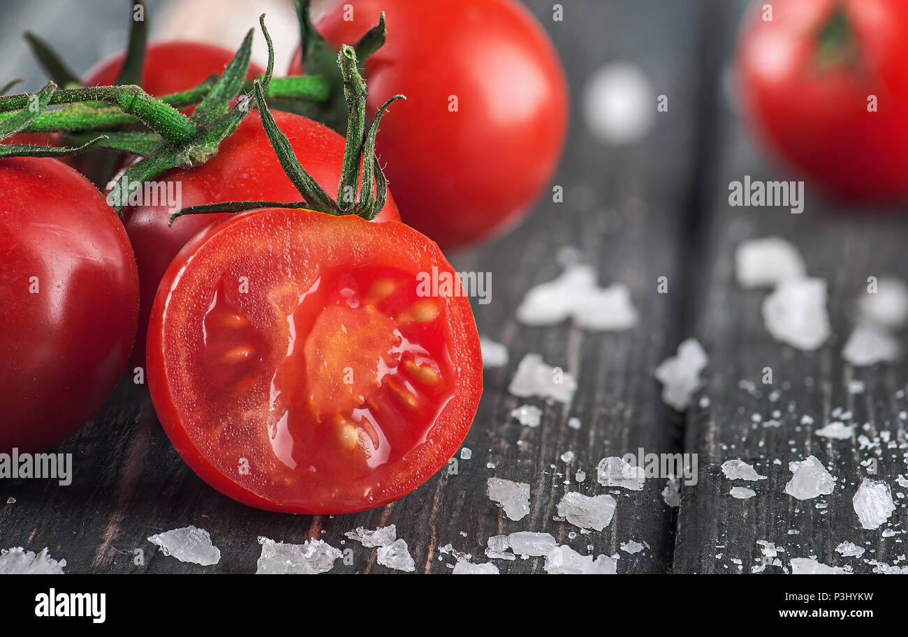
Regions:
<instances>
[{"instance_id":1,"label":"chunky blurred salt lump touching the one nearest the lone right tomato","mask_svg":"<svg viewBox=\"0 0 908 637\"><path fill-rule=\"evenodd\" d=\"M763 302L767 331L798 349L819 348L829 339L826 281L790 279L781 282Z\"/></svg>"}]
</instances>

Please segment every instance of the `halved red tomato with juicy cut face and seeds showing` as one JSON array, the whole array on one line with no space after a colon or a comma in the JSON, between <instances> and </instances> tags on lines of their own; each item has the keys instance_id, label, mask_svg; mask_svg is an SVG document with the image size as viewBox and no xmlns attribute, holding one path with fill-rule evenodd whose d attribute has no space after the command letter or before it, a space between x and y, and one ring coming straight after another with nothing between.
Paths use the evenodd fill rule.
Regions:
<instances>
[{"instance_id":1,"label":"halved red tomato with juicy cut face and seeds showing","mask_svg":"<svg viewBox=\"0 0 908 637\"><path fill-rule=\"evenodd\" d=\"M448 462L482 392L457 276L397 222L266 209L221 220L154 300L148 379L173 446L246 505L339 514L389 503Z\"/></svg>"}]
</instances>

